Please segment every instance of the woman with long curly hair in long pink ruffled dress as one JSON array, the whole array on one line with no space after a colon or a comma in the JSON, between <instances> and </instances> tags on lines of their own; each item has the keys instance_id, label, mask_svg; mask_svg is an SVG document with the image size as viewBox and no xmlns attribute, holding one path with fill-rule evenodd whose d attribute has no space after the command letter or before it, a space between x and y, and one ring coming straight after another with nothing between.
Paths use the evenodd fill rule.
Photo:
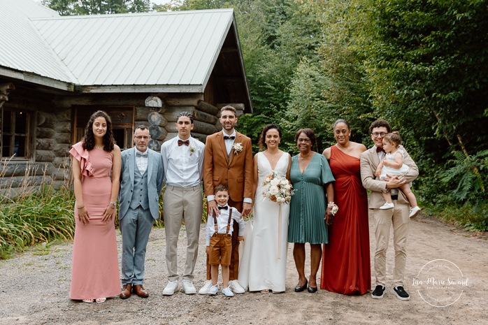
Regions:
<instances>
[{"instance_id":1,"label":"woman with long curly hair in long pink ruffled dress","mask_svg":"<svg viewBox=\"0 0 488 325\"><path fill-rule=\"evenodd\" d=\"M107 297L120 294L113 218L122 159L107 113L93 113L85 136L69 153L73 156L76 197L69 297L85 303L104 303Z\"/></svg>"}]
</instances>

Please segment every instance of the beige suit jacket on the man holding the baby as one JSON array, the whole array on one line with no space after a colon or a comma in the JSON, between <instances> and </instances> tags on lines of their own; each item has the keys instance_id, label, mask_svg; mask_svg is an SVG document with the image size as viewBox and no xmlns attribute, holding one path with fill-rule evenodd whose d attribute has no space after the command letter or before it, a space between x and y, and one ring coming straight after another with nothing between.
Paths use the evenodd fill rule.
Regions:
<instances>
[{"instance_id":1,"label":"beige suit jacket on the man holding the baby","mask_svg":"<svg viewBox=\"0 0 488 325\"><path fill-rule=\"evenodd\" d=\"M403 164L410 167L410 171L405 175L407 182L412 182L419 175L419 168L415 164L415 161L410 158L410 154L406 152L403 146L399 146L404 152ZM376 146L371 147L361 154L361 182L366 189L371 190L371 196L369 197L368 208L378 209L385 199L381 195L381 192L387 192L387 182L384 180L376 180L376 168L380 164L378 153L376 152ZM407 197L399 189L399 203L409 204Z\"/></svg>"}]
</instances>

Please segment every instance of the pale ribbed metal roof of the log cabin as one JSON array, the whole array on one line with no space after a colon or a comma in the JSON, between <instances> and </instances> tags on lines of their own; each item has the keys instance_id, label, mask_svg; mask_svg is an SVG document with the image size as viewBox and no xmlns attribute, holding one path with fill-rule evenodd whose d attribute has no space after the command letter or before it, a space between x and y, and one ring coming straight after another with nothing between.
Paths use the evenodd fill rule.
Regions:
<instances>
[{"instance_id":1,"label":"pale ribbed metal roof of the log cabin","mask_svg":"<svg viewBox=\"0 0 488 325\"><path fill-rule=\"evenodd\" d=\"M0 29L22 28L0 48L0 74L97 92L203 92L233 23L232 9L59 17L30 0L0 0Z\"/></svg>"}]
</instances>

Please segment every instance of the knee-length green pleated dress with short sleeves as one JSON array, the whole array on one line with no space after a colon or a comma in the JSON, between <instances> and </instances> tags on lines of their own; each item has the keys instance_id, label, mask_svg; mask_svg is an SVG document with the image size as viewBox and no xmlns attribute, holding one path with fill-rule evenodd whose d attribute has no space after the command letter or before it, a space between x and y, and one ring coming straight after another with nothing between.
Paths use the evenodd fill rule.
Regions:
<instances>
[{"instance_id":1,"label":"knee-length green pleated dress with short sleeves","mask_svg":"<svg viewBox=\"0 0 488 325\"><path fill-rule=\"evenodd\" d=\"M310 164L303 174L300 171L299 156L292 157L289 172L295 191L290 202L288 242L289 243L329 243L324 222L327 206L324 185L334 178L327 159L314 152Z\"/></svg>"}]
</instances>

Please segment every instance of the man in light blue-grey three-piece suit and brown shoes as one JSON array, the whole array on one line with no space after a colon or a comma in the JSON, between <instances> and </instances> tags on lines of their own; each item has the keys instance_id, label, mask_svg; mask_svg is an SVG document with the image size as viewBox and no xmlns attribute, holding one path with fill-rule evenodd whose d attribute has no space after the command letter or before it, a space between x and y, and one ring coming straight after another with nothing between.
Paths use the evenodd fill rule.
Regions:
<instances>
[{"instance_id":1,"label":"man in light blue-grey three-piece suit and brown shoes","mask_svg":"<svg viewBox=\"0 0 488 325\"><path fill-rule=\"evenodd\" d=\"M155 219L159 218L159 194L163 184L161 155L148 148L149 129L136 127L136 147L122 152L119 224L122 233L122 290L141 298L149 296L143 287L145 250Z\"/></svg>"}]
</instances>

